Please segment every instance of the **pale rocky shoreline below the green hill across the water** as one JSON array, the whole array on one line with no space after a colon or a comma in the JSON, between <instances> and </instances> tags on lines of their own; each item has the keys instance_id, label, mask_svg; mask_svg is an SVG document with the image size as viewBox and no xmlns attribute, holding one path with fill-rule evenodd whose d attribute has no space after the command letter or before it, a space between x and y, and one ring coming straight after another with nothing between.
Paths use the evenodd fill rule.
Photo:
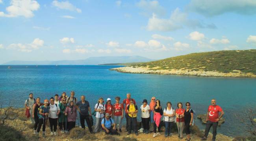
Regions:
<instances>
[{"instance_id":1,"label":"pale rocky shoreline below the green hill across the water","mask_svg":"<svg viewBox=\"0 0 256 141\"><path fill-rule=\"evenodd\" d=\"M239 70L233 72L217 72L217 71L191 71L189 69L171 69L163 70L158 68L126 66L109 69L111 71L124 73L141 73L141 74L163 74L163 75L190 75L190 76L214 76L214 77L236 77L236 78L256 78L255 74L244 73Z\"/></svg>"}]
</instances>

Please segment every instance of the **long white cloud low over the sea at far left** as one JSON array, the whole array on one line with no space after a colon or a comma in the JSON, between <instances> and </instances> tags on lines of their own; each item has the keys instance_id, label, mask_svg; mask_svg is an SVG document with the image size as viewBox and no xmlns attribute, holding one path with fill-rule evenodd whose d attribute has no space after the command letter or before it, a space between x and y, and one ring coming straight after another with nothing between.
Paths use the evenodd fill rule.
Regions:
<instances>
[{"instance_id":1,"label":"long white cloud low over the sea at far left","mask_svg":"<svg viewBox=\"0 0 256 141\"><path fill-rule=\"evenodd\" d=\"M7 47L7 49L13 49L21 52L32 52L35 49L39 49L44 45L44 41L39 38L35 38L32 43L22 44L22 43L12 43Z\"/></svg>"}]
</instances>

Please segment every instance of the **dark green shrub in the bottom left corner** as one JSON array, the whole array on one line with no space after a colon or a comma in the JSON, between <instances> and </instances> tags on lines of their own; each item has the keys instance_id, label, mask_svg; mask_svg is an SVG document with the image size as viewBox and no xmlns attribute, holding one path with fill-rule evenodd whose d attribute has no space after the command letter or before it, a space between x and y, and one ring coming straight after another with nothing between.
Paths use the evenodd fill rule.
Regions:
<instances>
[{"instance_id":1,"label":"dark green shrub in the bottom left corner","mask_svg":"<svg viewBox=\"0 0 256 141\"><path fill-rule=\"evenodd\" d=\"M6 125L0 125L0 135L0 141L26 141L22 132Z\"/></svg>"}]
</instances>

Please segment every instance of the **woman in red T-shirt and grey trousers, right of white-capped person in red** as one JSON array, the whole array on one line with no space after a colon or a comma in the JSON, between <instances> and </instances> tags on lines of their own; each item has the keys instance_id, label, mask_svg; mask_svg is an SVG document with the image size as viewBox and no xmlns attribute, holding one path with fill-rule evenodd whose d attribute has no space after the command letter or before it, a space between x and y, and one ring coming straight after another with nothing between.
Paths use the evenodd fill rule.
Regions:
<instances>
[{"instance_id":1,"label":"woman in red T-shirt and grey trousers, right of white-capped person in red","mask_svg":"<svg viewBox=\"0 0 256 141\"><path fill-rule=\"evenodd\" d=\"M120 97L115 97L116 103L113 105L113 116L114 116L114 121L116 125L119 125L119 132L122 132L122 118L123 118L123 112L124 112L124 106L122 103L120 103ZM116 128L117 130L117 128Z\"/></svg>"}]
</instances>

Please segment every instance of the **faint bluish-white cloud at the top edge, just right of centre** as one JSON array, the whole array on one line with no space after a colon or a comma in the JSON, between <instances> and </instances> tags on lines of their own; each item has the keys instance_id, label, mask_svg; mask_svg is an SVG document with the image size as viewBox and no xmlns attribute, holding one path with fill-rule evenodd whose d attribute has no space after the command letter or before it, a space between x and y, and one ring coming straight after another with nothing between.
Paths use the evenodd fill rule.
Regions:
<instances>
[{"instance_id":1,"label":"faint bluish-white cloud at the top edge, just right of centre","mask_svg":"<svg viewBox=\"0 0 256 141\"><path fill-rule=\"evenodd\" d=\"M165 9L162 7L157 0L141 0L136 4L137 7L143 9L143 15L150 16L152 13L158 15L165 14Z\"/></svg>"}]
</instances>

